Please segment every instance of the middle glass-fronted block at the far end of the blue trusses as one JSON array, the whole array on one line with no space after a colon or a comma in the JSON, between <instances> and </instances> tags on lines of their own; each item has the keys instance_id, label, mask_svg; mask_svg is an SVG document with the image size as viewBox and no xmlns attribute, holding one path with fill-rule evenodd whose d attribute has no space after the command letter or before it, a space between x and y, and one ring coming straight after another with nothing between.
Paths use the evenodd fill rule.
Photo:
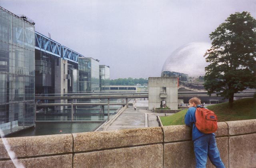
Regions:
<instances>
[{"instance_id":1,"label":"middle glass-fronted block at the far end of the blue trusses","mask_svg":"<svg viewBox=\"0 0 256 168\"><path fill-rule=\"evenodd\" d=\"M99 62L93 58L78 58L78 92L100 91Z\"/></svg>"}]
</instances>

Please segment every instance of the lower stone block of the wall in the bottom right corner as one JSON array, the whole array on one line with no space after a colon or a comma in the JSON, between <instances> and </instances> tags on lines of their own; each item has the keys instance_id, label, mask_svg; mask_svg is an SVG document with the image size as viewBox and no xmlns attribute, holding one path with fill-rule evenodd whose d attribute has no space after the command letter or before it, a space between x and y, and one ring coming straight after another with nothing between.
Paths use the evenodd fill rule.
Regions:
<instances>
[{"instance_id":1,"label":"lower stone block of the wall in the bottom right corner","mask_svg":"<svg viewBox=\"0 0 256 168\"><path fill-rule=\"evenodd\" d=\"M256 168L256 134L229 138L230 168Z\"/></svg>"}]
</instances>

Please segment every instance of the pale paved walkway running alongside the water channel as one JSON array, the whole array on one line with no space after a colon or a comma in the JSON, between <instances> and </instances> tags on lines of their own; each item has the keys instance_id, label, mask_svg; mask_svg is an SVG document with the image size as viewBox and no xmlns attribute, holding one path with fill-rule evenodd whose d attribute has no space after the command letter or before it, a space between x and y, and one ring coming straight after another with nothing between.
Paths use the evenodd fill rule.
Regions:
<instances>
[{"instance_id":1,"label":"pale paved walkway running alongside the water channel","mask_svg":"<svg viewBox=\"0 0 256 168\"><path fill-rule=\"evenodd\" d=\"M153 113L152 110L148 110L148 100L136 100L134 106L137 106L136 110L132 106L126 108L107 130L156 127L158 126L156 116L172 115Z\"/></svg>"}]
</instances>

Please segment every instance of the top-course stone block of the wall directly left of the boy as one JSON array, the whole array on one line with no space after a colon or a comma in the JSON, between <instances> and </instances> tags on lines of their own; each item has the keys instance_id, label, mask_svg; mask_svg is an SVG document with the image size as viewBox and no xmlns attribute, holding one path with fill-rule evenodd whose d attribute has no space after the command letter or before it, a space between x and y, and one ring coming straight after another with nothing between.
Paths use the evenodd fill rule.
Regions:
<instances>
[{"instance_id":1,"label":"top-course stone block of the wall directly left of the boy","mask_svg":"<svg viewBox=\"0 0 256 168\"><path fill-rule=\"evenodd\" d=\"M191 129L185 125L164 126L164 142L191 140Z\"/></svg>"}]
</instances>

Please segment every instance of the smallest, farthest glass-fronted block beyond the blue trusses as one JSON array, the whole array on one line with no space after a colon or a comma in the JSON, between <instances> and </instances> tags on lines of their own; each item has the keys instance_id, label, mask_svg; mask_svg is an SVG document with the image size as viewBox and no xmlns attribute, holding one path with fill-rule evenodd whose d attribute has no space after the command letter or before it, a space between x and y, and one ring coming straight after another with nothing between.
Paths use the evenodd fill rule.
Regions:
<instances>
[{"instance_id":1,"label":"smallest, farthest glass-fronted block beyond the blue trusses","mask_svg":"<svg viewBox=\"0 0 256 168\"><path fill-rule=\"evenodd\" d=\"M109 66L100 65L100 91L109 90L110 72Z\"/></svg>"}]
</instances>

